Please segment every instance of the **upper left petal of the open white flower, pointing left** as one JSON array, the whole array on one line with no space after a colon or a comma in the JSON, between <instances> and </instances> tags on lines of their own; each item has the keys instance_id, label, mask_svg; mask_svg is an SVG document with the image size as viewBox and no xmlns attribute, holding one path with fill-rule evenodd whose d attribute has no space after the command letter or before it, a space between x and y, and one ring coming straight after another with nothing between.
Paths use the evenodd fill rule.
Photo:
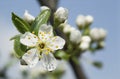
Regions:
<instances>
[{"instance_id":1,"label":"upper left petal of the open white flower, pointing left","mask_svg":"<svg viewBox=\"0 0 120 79\"><path fill-rule=\"evenodd\" d=\"M20 42L26 46L35 46L38 42L38 37L30 32L26 32L20 37Z\"/></svg>"}]
</instances>

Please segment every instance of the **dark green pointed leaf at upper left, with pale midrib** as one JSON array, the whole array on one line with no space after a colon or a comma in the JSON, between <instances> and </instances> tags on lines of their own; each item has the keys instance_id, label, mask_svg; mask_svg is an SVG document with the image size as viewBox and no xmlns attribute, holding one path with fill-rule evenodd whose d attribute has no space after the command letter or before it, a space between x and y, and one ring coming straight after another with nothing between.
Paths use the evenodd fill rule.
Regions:
<instances>
[{"instance_id":1,"label":"dark green pointed leaf at upper left, with pale midrib","mask_svg":"<svg viewBox=\"0 0 120 79\"><path fill-rule=\"evenodd\" d=\"M30 25L12 12L12 22L20 33L31 31Z\"/></svg>"}]
</instances>

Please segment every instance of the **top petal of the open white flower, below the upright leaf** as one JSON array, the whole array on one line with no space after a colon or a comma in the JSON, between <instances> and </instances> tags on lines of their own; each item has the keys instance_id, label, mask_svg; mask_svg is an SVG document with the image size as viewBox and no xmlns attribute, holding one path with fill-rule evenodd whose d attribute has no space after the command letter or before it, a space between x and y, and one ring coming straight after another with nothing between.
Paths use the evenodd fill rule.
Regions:
<instances>
[{"instance_id":1,"label":"top petal of the open white flower, below the upright leaf","mask_svg":"<svg viewBox=\"0 0 120 79\"><path fill-rule=\"evenodd\" d=\"M53 36L53 28L50 25L43 24L39 29L38 36L40 40L48 40Z\"/></svg>"}]
</instances>

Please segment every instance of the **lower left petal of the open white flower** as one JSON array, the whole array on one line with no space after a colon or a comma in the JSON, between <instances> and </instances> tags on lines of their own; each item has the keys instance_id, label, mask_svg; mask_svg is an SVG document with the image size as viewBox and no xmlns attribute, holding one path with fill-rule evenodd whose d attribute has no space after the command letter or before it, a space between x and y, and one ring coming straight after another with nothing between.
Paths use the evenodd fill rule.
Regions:
<instances>
[{"instance_id":1,"label":"lower left petal of the open white flower","mask_svg":"<svg viewBox=\"0 0 120 79\"><path fill-rule=\"evenodd\" d=\"M22 59L28 64L30 68L34 67L39 60L37 49L30 49L22 56Z\"/></svg>"}]
</instances>

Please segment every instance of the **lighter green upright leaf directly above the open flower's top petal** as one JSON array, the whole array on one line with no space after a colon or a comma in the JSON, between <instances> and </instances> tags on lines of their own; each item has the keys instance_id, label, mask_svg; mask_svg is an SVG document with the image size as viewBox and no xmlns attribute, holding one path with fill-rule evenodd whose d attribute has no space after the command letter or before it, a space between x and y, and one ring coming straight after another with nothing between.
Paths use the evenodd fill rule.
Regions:
<instances>
[{"instance_id":1,"label":"lighter green upright leaf directly above the open flower's top petal","mask_svg":"<svg viewBox=\"0 0 120 79\"><path fill-rule=\"evenodd\" d=\"M35 21L32 24L32 28L33 28L33 32L35 32L35 34L38 34L38 30L39 27L42 24L46 24L48 22L48 19L50 17L50 9L47 10L43 10L38 17L35 18Z\"/></svg>"}]
</instances>

